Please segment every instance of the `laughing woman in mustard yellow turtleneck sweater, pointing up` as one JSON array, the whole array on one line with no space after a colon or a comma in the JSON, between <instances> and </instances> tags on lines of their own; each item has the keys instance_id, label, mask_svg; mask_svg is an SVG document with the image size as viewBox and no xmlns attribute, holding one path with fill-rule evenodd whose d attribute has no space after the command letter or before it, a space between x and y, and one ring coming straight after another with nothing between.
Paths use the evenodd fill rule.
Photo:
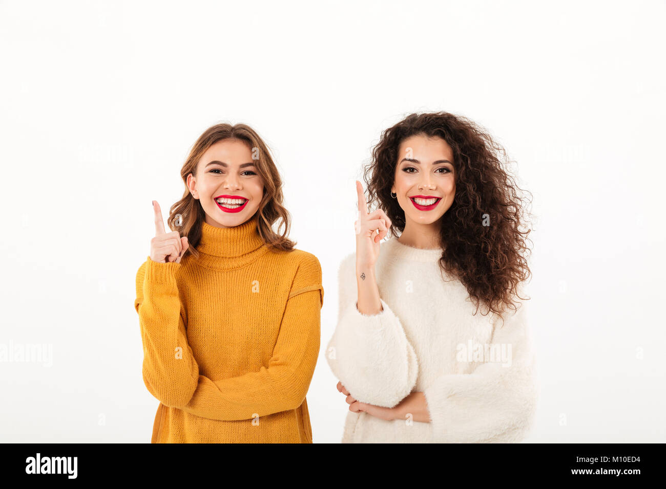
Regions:
<instances>
[{"instance_id":1,"label":"laughing woman in mustard yellow turtleneck sweater, pointing up","mask_svg":"<svg viewBox=\"0 0 666 489\"><path fill-rule=\"evenodd\" d=\"M155 238L137 272L143 381L160 401L151 442L311 443L322 271L286 238L268 148L245 124L217 124L180 175L172 231L153 201Z\"/></svg>"}]
</instances>

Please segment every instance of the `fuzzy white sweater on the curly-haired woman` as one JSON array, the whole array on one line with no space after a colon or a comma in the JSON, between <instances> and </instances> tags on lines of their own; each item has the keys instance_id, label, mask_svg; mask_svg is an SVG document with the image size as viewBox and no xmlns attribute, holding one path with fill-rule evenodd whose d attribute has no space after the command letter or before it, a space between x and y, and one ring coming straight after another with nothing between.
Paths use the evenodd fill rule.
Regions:
<instances>
[{"instance_id":1,"label":"fuzzy white sweater on the curly-haired woman","mask_svg":"<svg viewBox=\"0 0 666 489\"><path fill-rule=\"evenodd\" d=\"M503 325L482 307L473 315L460 280L440 273L441 255L396 238L383 242L375 274L384 309L376 315L356 307L355 253L342 260L328 365L362 403L395 407L424 393L431 420L349 411L343 443L517 442L527 434L537 386L526 304L509 309Z\"/></svg>"}]
</instances>

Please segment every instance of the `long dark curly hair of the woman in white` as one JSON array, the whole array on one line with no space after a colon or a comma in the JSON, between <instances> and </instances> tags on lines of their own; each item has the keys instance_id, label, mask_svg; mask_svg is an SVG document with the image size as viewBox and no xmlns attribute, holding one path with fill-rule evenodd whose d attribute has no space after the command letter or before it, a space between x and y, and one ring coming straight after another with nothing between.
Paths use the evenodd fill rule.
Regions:
<instances>
[{"instance_id":1,"label":"long dark curly hair of the woman in white","mask_svg":"<svg viewBox=\"0 0 666 489\"><path fill-rule=\"evenodd\" d=\"M366 201L382 208L392 222L390 234L405 229L405 212L391 197L400 143L410 136L440 137L451 146L456 169L456 196L440 218L444 252L440 267L460 279L476 311L484 303L502 316L521 283L531 275L525 245L523 197L506 166L505 150L485 128L448 112L410 114L384 130L364 170ZM531 201L530 201L531 202ZM484 226L490 218L490 226ZM531 241L531 240L530 240ZM476 314L476 311L474 314Z\"/></svg>"}]
</instances>

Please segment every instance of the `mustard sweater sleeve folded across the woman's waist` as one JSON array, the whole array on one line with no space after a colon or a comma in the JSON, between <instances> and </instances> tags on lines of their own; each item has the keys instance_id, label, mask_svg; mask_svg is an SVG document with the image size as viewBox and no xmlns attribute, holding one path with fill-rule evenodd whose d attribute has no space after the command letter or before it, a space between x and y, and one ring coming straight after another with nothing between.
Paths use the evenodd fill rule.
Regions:
<instances>
[{"instance_id":1,"label":"mustard sweater sleeve folded across the woman's waist","mask_svg":"<svg viewBox=\"0 0 666 489\"><path fill-rule=\"evenodd\" d=\"M199 375L191 398L178 408L216 420L252 419L302 405L320 349L322 269L316 256L298 265L280 332L266 367L213 381Z\"/></svg>"}]
</instances>

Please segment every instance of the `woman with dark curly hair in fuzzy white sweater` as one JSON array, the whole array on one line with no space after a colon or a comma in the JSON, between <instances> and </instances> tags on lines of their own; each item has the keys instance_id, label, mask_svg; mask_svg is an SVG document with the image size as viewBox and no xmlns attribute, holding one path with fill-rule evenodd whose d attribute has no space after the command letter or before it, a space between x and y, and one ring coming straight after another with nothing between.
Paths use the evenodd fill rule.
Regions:
<instances>
[{"instance_id":1,"label":"woman with dark curly hair in fuzzy white sweater","mask_svg":"<svg viewBox=\"0 0 666 489\"><path fill-rule=\"evenodd\" d=\"M372 155L326 349L349 405L342 442L523 439L537 398L529 230L505 153L436 112L384 131Z\"/></svg>"}]
</instances>

